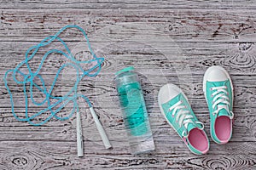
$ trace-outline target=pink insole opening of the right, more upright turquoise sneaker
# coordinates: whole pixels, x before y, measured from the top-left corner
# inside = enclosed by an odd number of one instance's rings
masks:
[[[222,144],[229,141],[231,135],[231,124],[228,116],[218,116],[215,121],[215,133]]]

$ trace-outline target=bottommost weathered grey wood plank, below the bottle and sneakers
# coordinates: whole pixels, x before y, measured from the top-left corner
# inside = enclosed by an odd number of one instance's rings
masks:
[[[155,140],[163,143],[159,139]],[[158,150],[161,150],[158,153],[152,152],[147,156],[131,156],[126,154],[125,145],[106,152],[106,150],[100,149],[101,147],[98,147],[98,150],[91,150],[95,143],[85,141],[85,156],[80,159],[74,156],[76,145],[73,142],[44,142],[44,144],[41,142],[1,142],[1,145],[6,144],[11,144],[13,147],[3,148],[1,146],[2,152],[6,155],[2,161],[7,165],[6,167],[11,169],[70,169],[72,167],[78,169],[226,169],[230,167],[250,169],[255,165],[254,153],[256,150],[253,143],[241,143],[238,147],[234,142],[221,145],[222,147],[212,144],[212,149],[207,156],[195,156],[180,144],[172,143],[167,150],[164,144],[157,145]],[[37,144],[36,148],[35,144]],[[24,147],[25,145],[26,147]],[[234,147],[236,150],[233,149]],[[102,155],[102,153],[105,154]],[[183,157],[182,160],[181,157]]]

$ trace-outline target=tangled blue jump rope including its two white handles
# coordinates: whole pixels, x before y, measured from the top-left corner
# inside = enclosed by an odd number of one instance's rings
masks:
[[[88,48],[90,50],[90,54],[92,55],[92,59],[84,60],[84,61],[79,61],[79,60],[75,59],[75,57],[71,53],[71,50],[67,47],[67,43],[64,42],[61,39],[61,37],[59,37],[61,32],[65,31],[69,28],[76,28],[83,33],[84,38],[87,42]],[[59,49],[50,49],[49,51],[47,51],[44,54],[44,56],[41,60],[41,63],[38,66],[38,69],[36,71],[32,71],[28,62],[35,56],[35,54],[37,54],[39,48],[44,48],[44,46],[48,46],[51,42],[53,42],[55,40],[61,42],[62,45],[64,46],[64,48],[67,50],[67,52],[65,53],[64,51],[59,50]],[[61,54],[61,55],[65,56],[67,59],[69,59],[71,62],[61,65],[61,68],[59,68],[59,70],[55,74],[54,81],[52,82],[50,88],[46,88],[44,78],[41,77],[39,73],[44,64],[44,60],[47,59],[49,54]],[[79,113],[79,104],[78,104],[78,99],[82,98],[88,104],[88,106],[90,108],[90,113],[94,119],[94,122],[96,123],[96,127],[102,137],[102,142],[105,145],[105,148],[106,149],[111,148],[112,146],[108,140],[108,136],[105,133],[105,131],[102,127],[102,124],[98,119],[98,116],[96,116],[96,113],[90,103],[90,100],[85,95],[77,93],[79,82],[82,81],[83,77],[85,77],[85,76],[96,77],[99,74],[99,72],[102,70],[102,62],[103,61],[104,61],[104,58],[96,57],[96,54],[94,54],[92,48],[90,47],[90,42],[89,42],[89,39],[88,39],[85,31],[79,26],[64,26],[63,28],[61,28],[60,31],[58,31],[55,34],[55,36],[45,37],[43,41],[38,43],[38,45],[28,48],[26,50],[25,59],[23,61],[21,61],[20,64],[15,67],[15,69],[6,71],[6,73],[3,77],[3,82],[5,84],[5,87],[7,88],[7,91],[10,96],[10,103],[11,103],[13,115],[20,122],[28,122],[29,124],[32,124],[34,126],[41,126],[41,125],[44,125],[46,122],[48,122],[52,117],[55,117],[57,120],[64,121],[64,120],[67,120],[70,117],[72,117],[73,114],[76,112],[78,156],[84,156],[81,117],[80,117],[80,113]],[[88,70],[83,69],[82,64],[90,64],[92,62],[96,62],[96,65],[92,66]],[[26,65],[26,68],[28,70],[27,74],[20,71],[20,68],[23,65]],[[55,87],[55,82],[57,81],[61,71],[63,69],[65,69],[66,67],[72,67],[73,69],[75,69],[76,82],[74,83],[73,88],[71,88],[71,90],[69,92],[67,92],[67,94],[65,94],[64,96],[61,96],[61,97],[54,96],[52,94],[52,91],[53,91],[53,88]],[[80,72],[82,72],[83,74],[79,75]],[[8,81],[7,81],[7,77],[9,76],[9,74],[11,74],[11,77],[13,78],[15,83],[20,84],[21,86],[23,85],[23,94],[25,96],[25,104],[26,104],[25,105],[26,118],[20,118],[15,113],[15,103],[14,103],[13,95],[11,93],[11,90],[9,89],[9,85],[8,85]],[[18,79],[17,79],[18,76],[22,77],[23,80],[18,81]],[[35,82],[35,78],[39,78],[39,80],[42,82],[42,85],[38,85]],[[29,86],[29,91],[26,90],[27,86]],[[45,95],[45,98],[42,102],[35,101],[35,99],[33,97],[33,88],[37,88],[41,93],[43,93]],[[30,98],[28,98],[28,96]],[[51,101],[52,99],[55,99],[56,101],[52,102]],[[36,113],[32,116],[28,116],[28,102],[32,102],[33,105],[37,105],[37,106],[47,105],[47,107],[45,109],[43,109],[42,111],[38,111],[38,113]],[[67,116],[57,116],[57,113],[60,112],[61,109],[63,109],[70,102],[73,102],[72,111]],[[53,111],[53,109],[55,109],[55,108],[57,108],[57,109],[55,111]],[[37,116],[40,116],[40,115],[46,113],[47,111],[50,112],[50,115],[43,122],[38,122],[38,123],[32,122],[32,120],[35,119]]]

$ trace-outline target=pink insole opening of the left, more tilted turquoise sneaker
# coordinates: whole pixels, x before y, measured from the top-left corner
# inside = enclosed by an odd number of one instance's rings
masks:
[[[193,128],[189,132],[189,143],[196,149],[200,150],[203,154],[207,153],[209,149],[209,143],[207,140],[207,134],[199,128]]]

